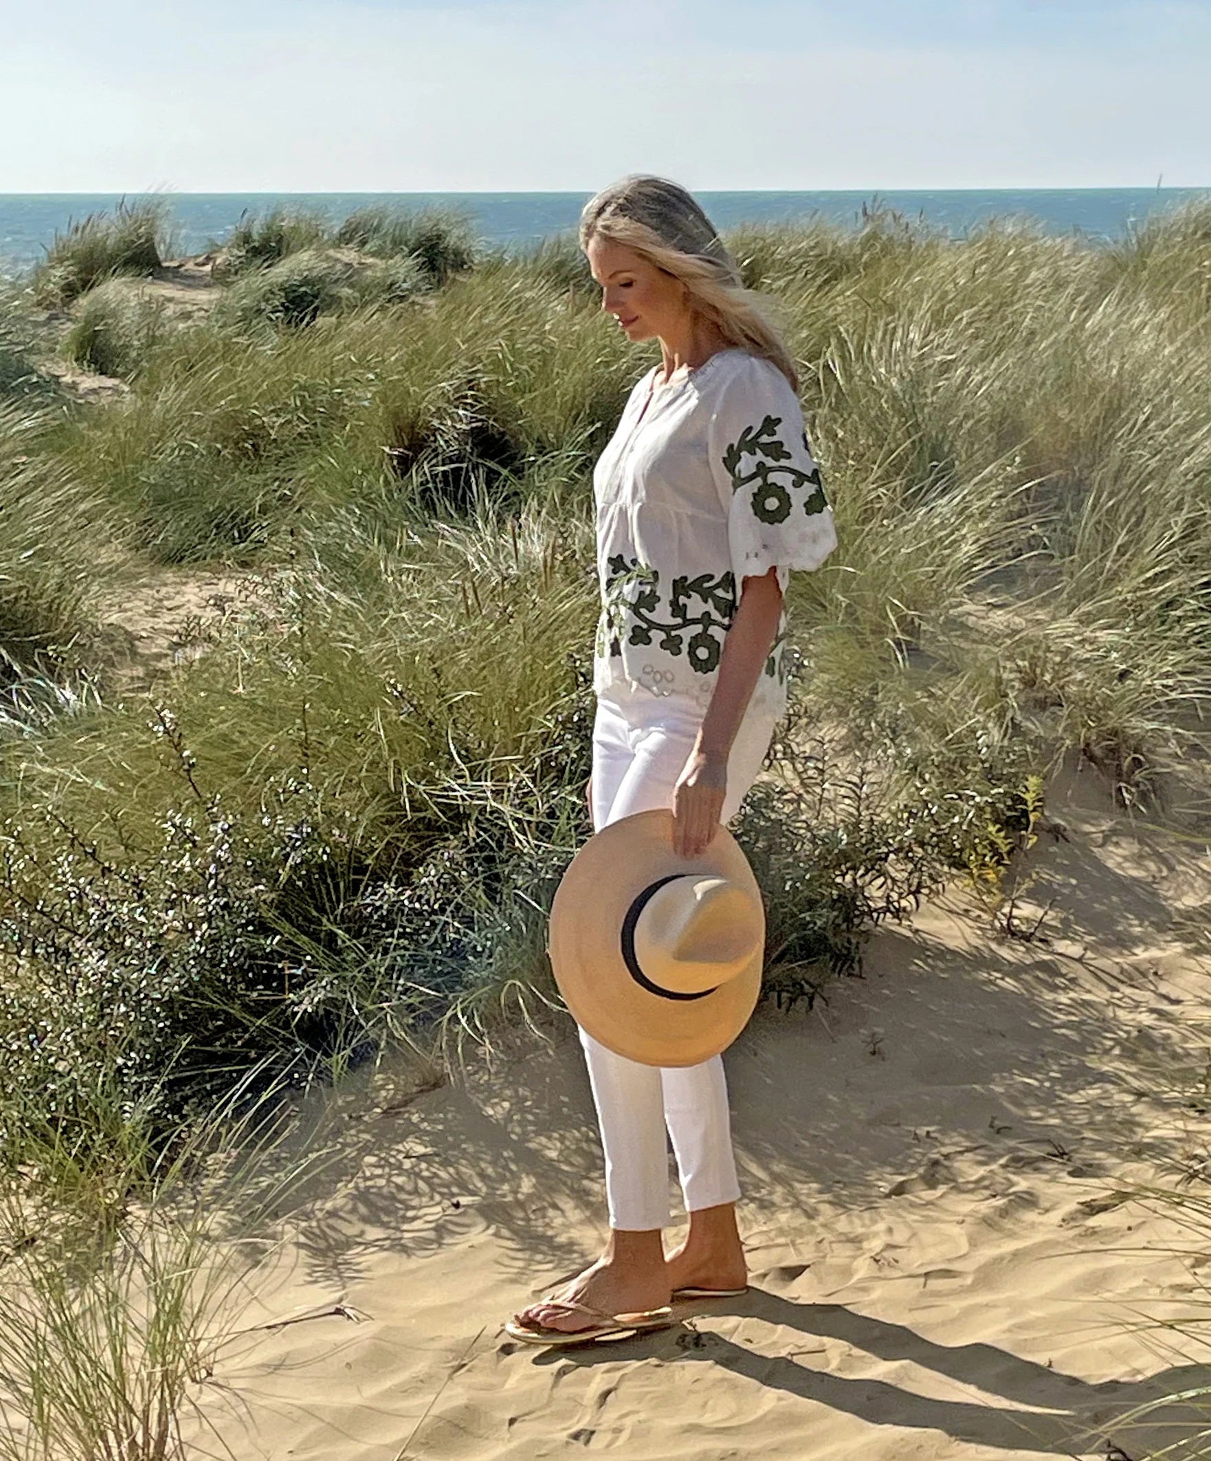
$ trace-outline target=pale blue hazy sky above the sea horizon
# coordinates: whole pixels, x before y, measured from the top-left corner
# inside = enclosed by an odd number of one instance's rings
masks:
[[[0,0],[0,191],[1211,184],[1211,0]]]

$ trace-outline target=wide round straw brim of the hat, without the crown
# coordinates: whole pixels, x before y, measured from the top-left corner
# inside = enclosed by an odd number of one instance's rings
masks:
[[[635,812],[595,833],[564,872],[551,904],[546,951],[564,1002],[581,1029],[643,1065],[700,1065],[741,1033],[761,992],[765,909],[736,839],[722,824],[697,858],[673,852],[673,814]],[[746,891],[761,910],[749,963],[700,999],[650,993],[622,957],[621,929],[633,900],[671,874],[714,874]]]

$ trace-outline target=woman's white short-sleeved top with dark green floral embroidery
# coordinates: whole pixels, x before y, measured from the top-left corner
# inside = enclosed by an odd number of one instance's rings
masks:
[[[597,694],[618,682],[703,710],[744,579],[817,568],[837,546],[799,399],[771,361],[717,351],[631,390],[593,469]],[[786,709],[786,605],[749,709]]]

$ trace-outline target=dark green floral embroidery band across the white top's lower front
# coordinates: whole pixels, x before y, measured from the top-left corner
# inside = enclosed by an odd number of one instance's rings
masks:
[[[689,668],[700,675],[708,675],[719,665],[723,638],[736,612],[736,581],[730,570],[719,577],[703,573],[695,579],[673,579],[663,615],[659,570],[637,558],[628,562],[622,554],[608,560],[608,570],[597,621],[599,656],[621,655],[624,637],[628,644],[650,644],[653,634],[659,634],[657,647],[666,655],[684,650]],[[703,605],[701,611],[691,611],[691,599]]]

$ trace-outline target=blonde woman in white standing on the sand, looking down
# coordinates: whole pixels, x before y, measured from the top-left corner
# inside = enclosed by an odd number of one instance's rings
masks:
[[[672,808],[695,856],[736,814],[786,709],[790,568],[836,546],[793,361],[694,199],[633,175],[592,199],[580,247],[602,308],[662,364],[631,390],[593,472],[602,614],[595,646],[593,828]],[[678,1290],[745,1286],[720,1056],[659,1069],[581,1030],[611,1236],[558,1293],[514,1316],[567,1334]],[[689,1233],[668,1256],[668,1124]]]

